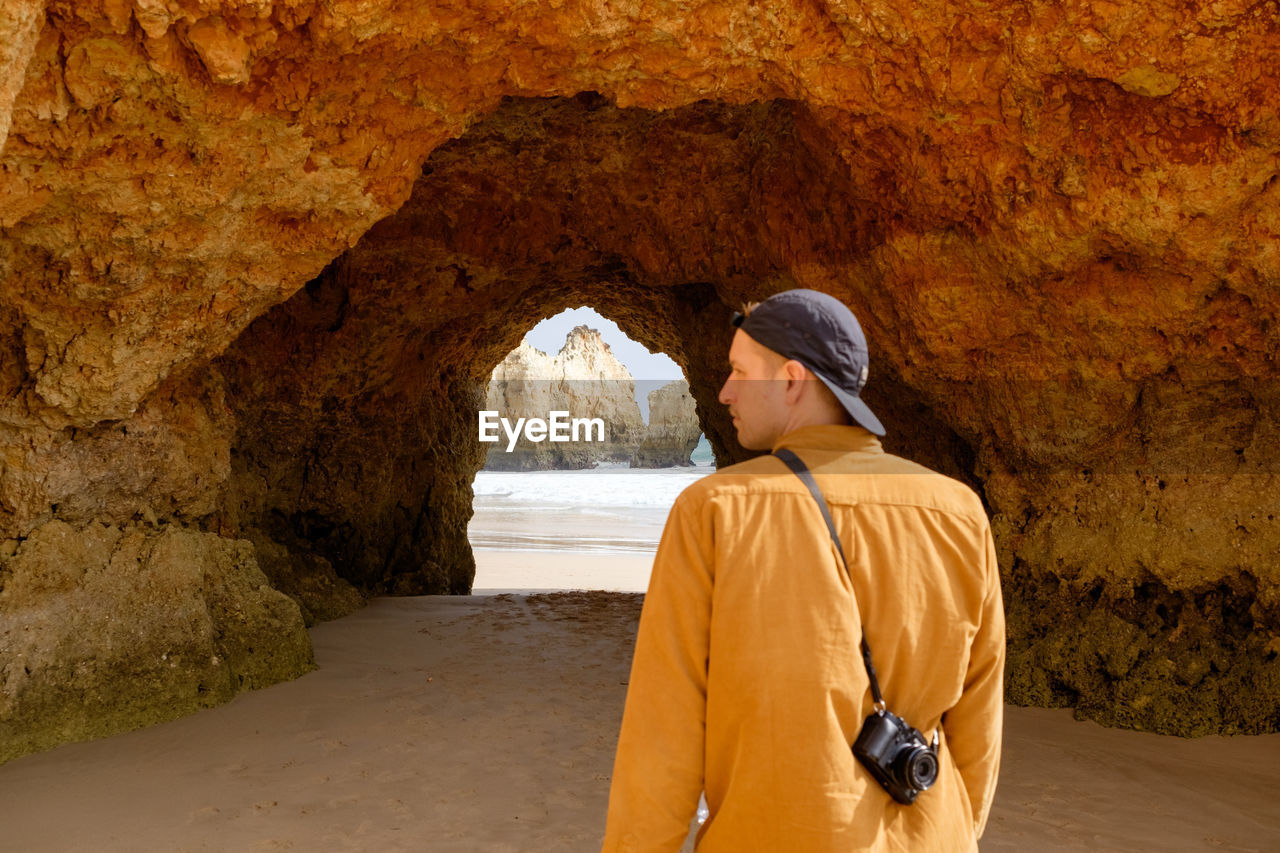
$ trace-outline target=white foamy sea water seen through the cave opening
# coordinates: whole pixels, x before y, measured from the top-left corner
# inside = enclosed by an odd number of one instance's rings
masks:
[[[713,470],[480,471],[467,534],[485,551],[652,553],[676,496]]]

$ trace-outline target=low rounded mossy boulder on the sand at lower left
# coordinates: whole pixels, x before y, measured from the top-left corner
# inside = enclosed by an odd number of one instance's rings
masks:
[[[0,762],[308,671],[297,605],[247,542],[52,520],[0,565]]]

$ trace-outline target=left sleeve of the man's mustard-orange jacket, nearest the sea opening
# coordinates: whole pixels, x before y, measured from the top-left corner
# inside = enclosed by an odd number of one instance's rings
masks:
[[[703,790],[712,532],[677,500],[654,557],[640,615],[605,853],[678,850]],[[704,516],[707,519],[709,516]]]

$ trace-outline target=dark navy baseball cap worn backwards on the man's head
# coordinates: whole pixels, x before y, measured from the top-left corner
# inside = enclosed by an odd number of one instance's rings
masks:
[[[806,366],[836,394],[854,423],[884,434],[879,418],[858,396],[867,384],[870,356],[863,327],[844,302],[818,291],[783,291],[750,314],[735,314],[733,325],[756,343]]]

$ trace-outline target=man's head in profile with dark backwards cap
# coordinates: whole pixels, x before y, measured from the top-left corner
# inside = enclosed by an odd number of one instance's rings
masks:
[[[818,291],[777,293],[733,320],[728,406],[742,447],[769,450],[792,429],[856,423],[884,426],[859,398],[867,383],[867,339],[840,300]]]

